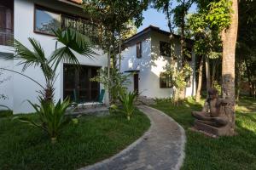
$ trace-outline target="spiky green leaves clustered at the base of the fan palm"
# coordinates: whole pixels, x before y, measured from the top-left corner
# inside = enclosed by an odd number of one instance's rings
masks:
[[[61,99],[55,104],[53,101],[45,101],[40,99],[40,105],[32,104],[36,114],[39,116],[39,122],[34,122],[28,117],[15,117],[20,122],[25,122],[32,127],[39,127],[49,134],[52,143],[56,142],[57,136],[60,134],[61,129],[67,126],[67,123],[71,121],[71,118],[65,116],[67,108],[72,105],[70,99],[65,99],[61,102]]]

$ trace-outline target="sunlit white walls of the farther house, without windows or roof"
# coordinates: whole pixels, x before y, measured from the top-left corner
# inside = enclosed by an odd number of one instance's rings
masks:
[[[137,47],[135,44],[125,48],[122,52],[121,71],[139,70],[139,93],[149,98],[170,98],[172,88],[160,88],[160,72],[166,71],[166,66],[170,65],[170,58],[160,56],[160,41],[169,42],[169,37],[158,32],[151,31],[148,38],[143,42],[143,56],[137,59]],[[175,39],[172,44],[172,57],[180,56],[180,42]],[[186,88],[186,96],[195,94],[195,56],[191,66],[194,69],[194,76],[191,77],[193,86]],[[131,85],[128,87],[133,91],[133,77]]]

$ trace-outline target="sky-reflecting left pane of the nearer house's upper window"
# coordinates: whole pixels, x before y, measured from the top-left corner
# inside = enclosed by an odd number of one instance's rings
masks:
[[[36,8],[35,11],[35,31],[53,35],[52,30],[61,28],[61,14]]]

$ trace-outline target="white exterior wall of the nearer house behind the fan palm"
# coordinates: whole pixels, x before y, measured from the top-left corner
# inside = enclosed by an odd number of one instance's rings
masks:
[[[26,47],[31,48],[32,46],[28,42],[28,37],[33,37],[38,40],[42,47],[44,48],[44,53],[49,56],[55,50],[55,37],[50,37],[43,34],[34,33],[34,5],[39,4],[49,8],[55,8],[59,11],[68,12],[69,14],[83,14],[82,8],[73,7],[71,5],[60,3],[51,0],[15,0],[14,9],[14,35],[15,39],[22,42]],[[61,44],[59,43],[59,46]],[[96,66],[107,66],[107,56],[102,54],[102,50],[95,49],[96,53],[99,54],[95,56],[94,59],[88,59],[84,56],[77,54],[79,62],[81,65],[96,65]],[[14,62],[14,70],[21,71],[22,66],[17,65],[18,60]],[[56,75],[57,80],[55,82],[55,100],[62,99],[63,97],[63,64],[57,69]],[[24,72],[26,76],[32,77],[37,82],[44,86],[44,76],[41,70],[36,67],[29,67]],[[102,88],[102,86],[101,86]],[[5,88],[4,88],[5,89]],[[7,88],[6,88],[7,89]],[[22,77],[18,74],[13,74],[13,102],[10,101],[8,105],[13,105],[11,108],[14,113],[27,113],[32,112],[33,109],[31,105],[26,101],[31,100],[32,103],[38,103],[38,93],[37,91],[41,88],[31,80],[26,77]],[[106,95],[105,95],[106,96]],[[0,108],[1,109],[1,108]]]

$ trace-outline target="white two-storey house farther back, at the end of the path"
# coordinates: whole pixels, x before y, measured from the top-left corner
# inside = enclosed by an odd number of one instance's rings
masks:
[[[177,60],[181,54],[179,36],[174,37],[172,45],[170,32],[162,31],[155,26],[148,26],[133,37],[127,39],[121,53],[121,71],[134,72],[131,77],[131,91],[137,90],[148,98],[170,98],[172,95],[171,77],[166,77],[165,71],[170,66],[171,58]],[[193,68],[193,76],[187,82],[186,96],[195,95],[195,54],[192,41],[186,39],[190,58],[185,57]],[[170,48],[171,47],[171,48]]]

